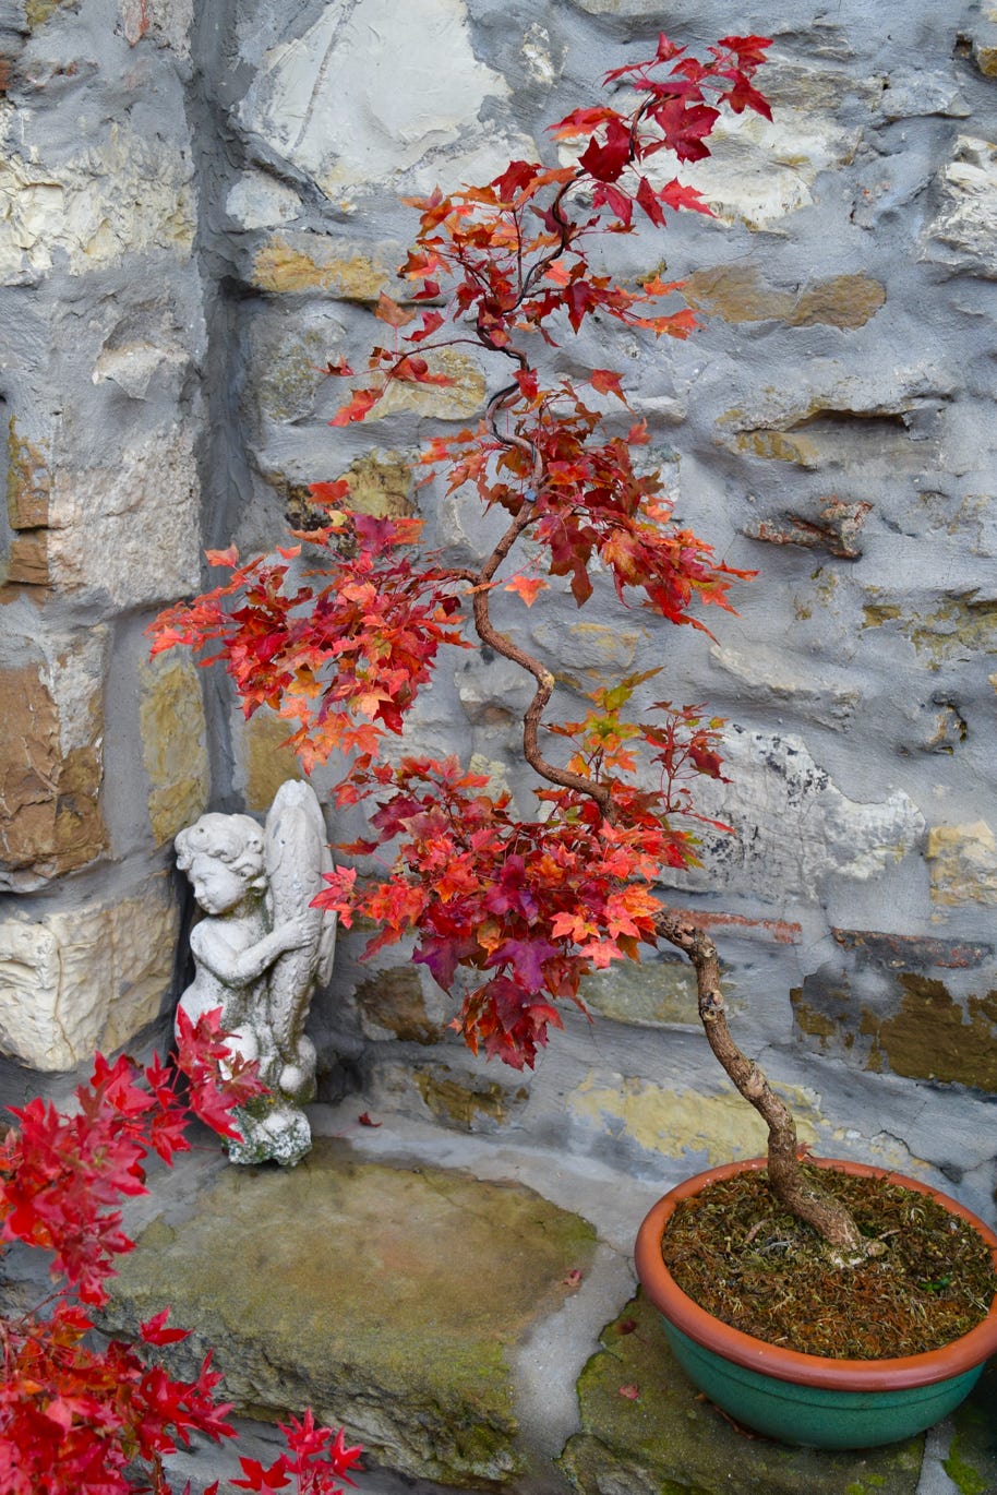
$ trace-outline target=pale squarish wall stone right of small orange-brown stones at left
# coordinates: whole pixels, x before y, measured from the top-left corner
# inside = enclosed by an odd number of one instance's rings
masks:
[[[109,465],[52,480],[48,561],[60,592],[118,607],[175,601],[200,577],[196,423],[109,451]]]

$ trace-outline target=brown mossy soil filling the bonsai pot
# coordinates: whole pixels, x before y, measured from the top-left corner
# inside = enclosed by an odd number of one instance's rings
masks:
[[[997,1271],[969,1221],[883,1178],[821,1169],[816,1181],[882,1242],[880,1256],[831,1265],[824,1242],[755,1169],[677,1205],[662,1257],[679,1287],[743,1334],[834,1359],[919,1354],[987,1317]]]

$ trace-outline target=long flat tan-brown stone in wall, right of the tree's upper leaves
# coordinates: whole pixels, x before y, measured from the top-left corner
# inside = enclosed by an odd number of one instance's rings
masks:
[[[867,275],[834,275],[797,292],[774,290],[756,265],[717,265],[694,271],[683,284],[691,306],[703,306],[725,321],[785,321],[791,327],[862,327],[886,300],[879,281]]]

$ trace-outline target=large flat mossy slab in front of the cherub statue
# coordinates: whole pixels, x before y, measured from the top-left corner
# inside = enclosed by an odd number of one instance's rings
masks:
[[[214,1344],[241,1408],[311,1405],[404,1474],[510,1488],[508,1357],[586,1269],[590,1226],[519,1186],[366,1163],[326,1139],[293,1172],[217,1175],[181,1223],[161,1197],[114,1280],[115,1326],[170,1302],[197,1326],[176,1360]]]

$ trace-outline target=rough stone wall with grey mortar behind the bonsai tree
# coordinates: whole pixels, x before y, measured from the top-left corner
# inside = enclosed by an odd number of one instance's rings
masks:
[[[806,7],[804,7],[806,9]],[[997,1094],[994,287],[997,13],[904,0],[0,0],[1,414],[9,428],[10,888],[0,1044],[39,1069],[126,1041],[167,999],[169,840],[211,797],[263,809],[294,771],[142,625],[347,475],[356,505],[417,508],[454,555],[474,507],[416,487],[427,417],[466,422],[493,375],[416,390],[330,431],[318,369],[368,347],[413,232],[399,194],[550,152],[544,126],[659,30],[774,37],[774,123],[728,121],[695,169],[716,217],[613,245],[667,260],[703,330],[593,327],[555,365],[623,371],[677,513],[737,567],[716,643],[611,595],[508,626],[558,671],[555,706],[665,667],[655,698],[729,721],[689,897],[726,957],[738,1032],[828,1150],[963,1181],[993,1208]],[[200,523],[197,520],[200,514]],[[667,685],[662,685],[662,679]],[[649,686],[650,689],[650,686]],[[517,770],[522,682],[441,665],[423,749]],[[347,828],[347,833],[351,827]],[[117,931],[121,933],[117,933]],[[398,955],[344,940],[314,1014],[326,1094],[447,1126],[526,1129],[635,1172],[753,1151],[667,957],[592,982],[596,1024],[535,1076],[475,1061]],[[336,1057],[338,1055],[338,1057]]]

